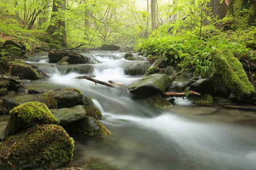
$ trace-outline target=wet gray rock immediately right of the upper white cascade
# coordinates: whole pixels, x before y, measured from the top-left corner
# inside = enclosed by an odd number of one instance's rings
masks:
[[[126,75],[143,75],[146,73],[150,63],[148,61],[136,61],[124,68]]]

